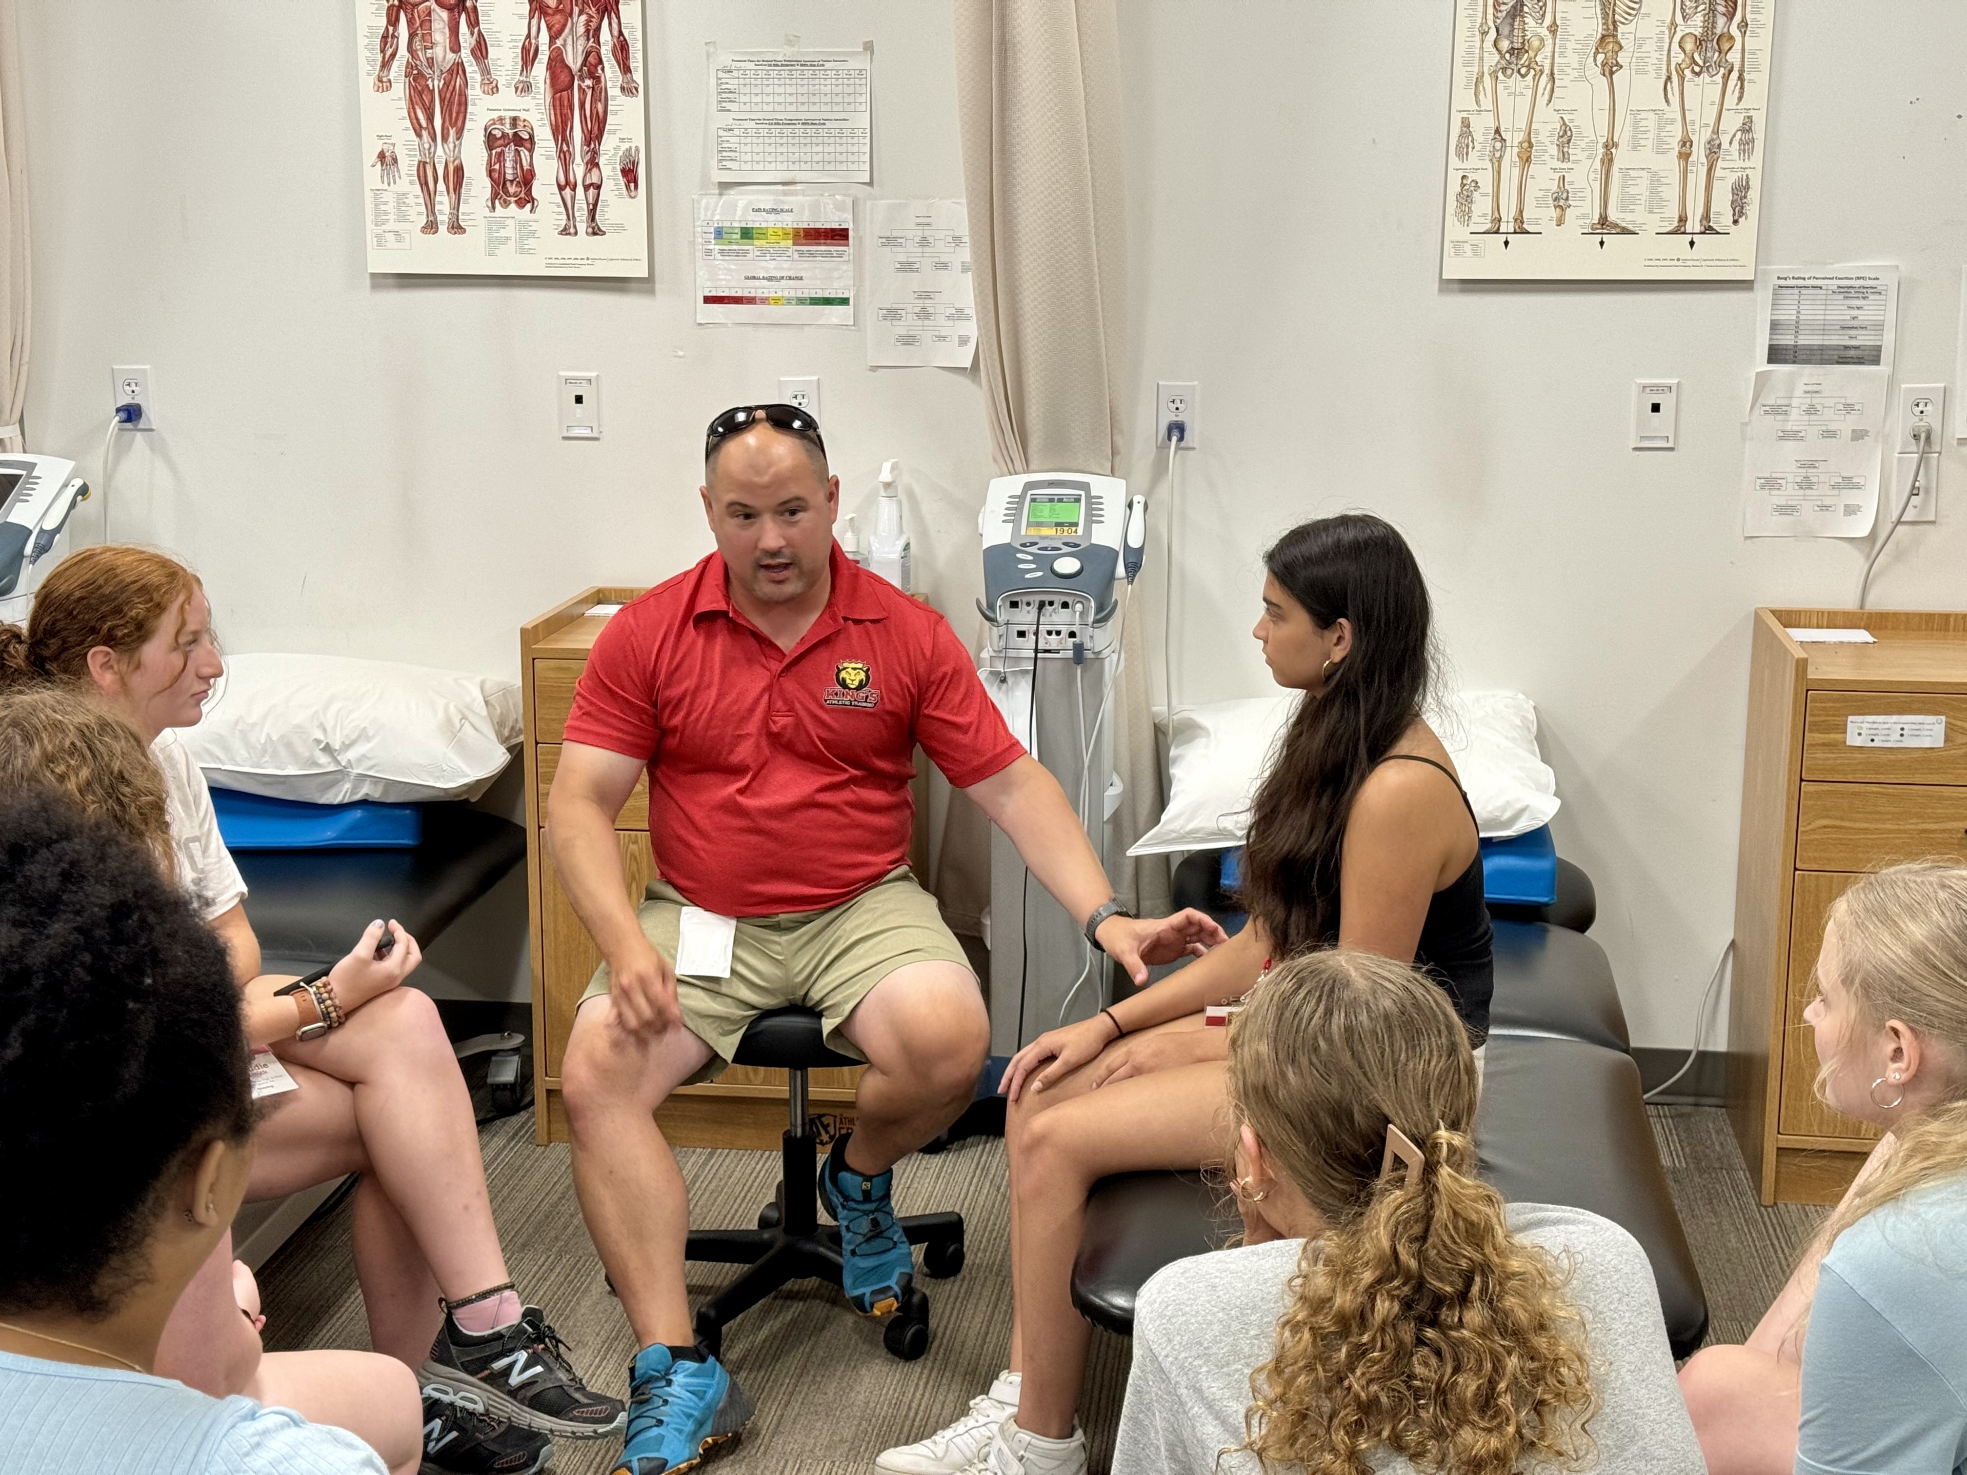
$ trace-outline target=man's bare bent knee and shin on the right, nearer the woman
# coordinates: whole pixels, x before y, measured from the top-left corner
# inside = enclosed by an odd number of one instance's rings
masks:
[[[984,1074],[989,1015],[976,974],[905,964],[869,989],[840,1027],[867,1056],[846,1147],[856,1172],[887,1172],[964,1113]]]

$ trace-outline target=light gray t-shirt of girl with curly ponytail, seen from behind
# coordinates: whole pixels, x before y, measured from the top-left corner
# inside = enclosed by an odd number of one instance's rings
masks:
[[[1599,1410],[1593,1475],[1705,1475],[1666,1345],[1660,1292],[1646,1253],[1625,1229],[1585,1210],[1511,1204],[1511,1231],[1576,1267],[1568,1296],[1583,1316]],[[1302,1239],[1176,1261],[1141,1286],[1133,1375],[1113,1449],[1113,1475],[1259,1475],[1243,1444],[1249,1375],[1271,1361],[1286,1284]],[[1375,1471],[1408,1475],[1379,1451]]]

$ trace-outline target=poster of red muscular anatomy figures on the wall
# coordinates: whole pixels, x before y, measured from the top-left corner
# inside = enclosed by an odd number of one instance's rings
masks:
[[[645,277],[641,0],[354,0],[370,271]]]

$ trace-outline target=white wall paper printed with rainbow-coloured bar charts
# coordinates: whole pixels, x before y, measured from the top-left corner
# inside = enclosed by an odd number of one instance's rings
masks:
[[[698,195],[696,321],[854,326],[854,199]]]

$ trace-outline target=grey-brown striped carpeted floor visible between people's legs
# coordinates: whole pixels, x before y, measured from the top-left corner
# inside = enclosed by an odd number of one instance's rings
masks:
[[[1707,1302],[1711,1339],[1741,1341],[1790,1272],[1821,1210],[1764,1210],[1717,1107],[1654,1107],[1654,1137],[1688,1227]],[[624,1392],[633,1351],[627,1324],[580,1225],[565,1147],[535,1147],[531,1115],[484,1131],[492,1206],[513,1278],[547,1308],[598,1388]],[[775,1152],[685,1150],[698,1227],[749,1225],[771,1200]],[[968,1265],[954,1280],[928,1280],[934,1345],[919,1363],[897,1363],[881,1329],[852,1316],[836,1292],[787,1290],[726,1331],[724,1357],[757,1398],[744,1442],[712,1469],[740,1475],[864,1475],[875,1451],[921,1438],[964,1410],[1003,1365],[1011,1331],[1009,1235],[1003,1143],[980,1139],[940,1156],[913,1156],[897,1172],[905,1213],[958,1210],[968,1225]],[[706,1296],[734,1270],[692,1265],[690,1294]],[[362,1298],[342,1204],[297,1233],[266,1265],[262,1294],[268,1347],[366,1347]],[[1094,1331],[1082,1418],[1103,1471],[1127,1383],[1127,1343]],[[612,1440],[561,1442],[559,1475],[600,1475]]]

